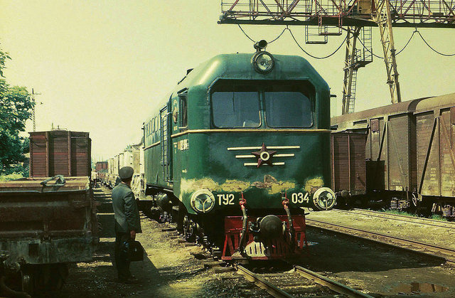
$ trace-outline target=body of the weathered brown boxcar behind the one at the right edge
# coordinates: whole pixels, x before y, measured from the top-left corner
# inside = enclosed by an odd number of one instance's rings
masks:
[[[331,119],[338,131],[368,134],[365,147],[368,190],[412,192],[417,188],[413,113],[422,100],[400,102]]]

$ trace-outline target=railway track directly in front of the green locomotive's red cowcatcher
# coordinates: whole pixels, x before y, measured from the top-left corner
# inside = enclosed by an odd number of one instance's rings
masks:
[[[254,282],[257,287],[265,289],[273,297],[287,298],[302,295],[306,297],[309,294],[332,296],[335,293],[343,294],[346,297],[371,297],[300,266],[294,266],[294,272],[280,274],[257,274],[242,265],[236,265],[236,267],[237,273],[250,282]],[[304,280],[301,277],[304,277]]]

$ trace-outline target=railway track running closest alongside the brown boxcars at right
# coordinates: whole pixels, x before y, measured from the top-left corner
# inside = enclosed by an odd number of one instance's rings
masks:
[[[391,219],[391,220],[400,220],[400,221],[404,221],[407,223],[418,223],[418,224],[422,224],[422,225],[430,225],[430,226],[434,226],[434,227],[438,227],[438,228],[449,228],[449,229],[455,230],[455,223],[444,222],[441,220],[434,220],[434,219],[430,219],[430,218],[418,218],[418,217],[414,217],[414,216],[385,213],[385,212],[380,212],[380,211],[370,211],[370,210],[358,209],[358,208],[354,208],[352,210],[333,209],[333,211],[338,212],[338,213],[368,215],[371,217],[385,218],[385,219]]]

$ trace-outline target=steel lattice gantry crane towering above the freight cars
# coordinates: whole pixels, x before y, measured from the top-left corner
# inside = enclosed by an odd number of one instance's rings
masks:
[[[380,30],[392,103],[401,102],[392,27],[455,28],[453,0],[222,0],[221,11],[218,23],[306,26],[306,43],[327,43],[327,36],[347,31],[343,114],[354,111],[358,69],[373,60],[371,27]]]

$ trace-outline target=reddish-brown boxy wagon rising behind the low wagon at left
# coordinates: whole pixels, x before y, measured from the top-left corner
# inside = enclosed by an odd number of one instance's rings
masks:
[[[30,176],[90,176],[88,132],[30,132]]]

